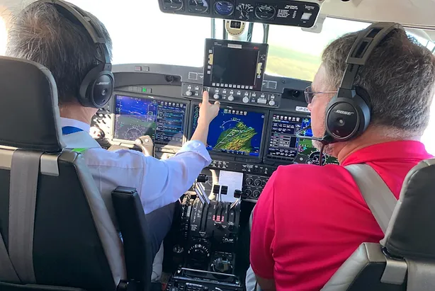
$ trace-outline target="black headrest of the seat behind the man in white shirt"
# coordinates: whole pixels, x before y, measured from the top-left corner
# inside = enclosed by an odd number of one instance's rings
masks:
[[[0,145],[62,151],[57,86],[46,67],[24,59],[0,57],[0,92]]]

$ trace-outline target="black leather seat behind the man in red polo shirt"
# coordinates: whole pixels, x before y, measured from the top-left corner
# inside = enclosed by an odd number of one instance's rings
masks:
[[[405,179],[385,238],[364,243],[323,291],[435,290],[435,159]]]

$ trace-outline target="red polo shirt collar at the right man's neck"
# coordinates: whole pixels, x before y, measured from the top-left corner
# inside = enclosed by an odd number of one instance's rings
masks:
[[[400,140],[373,144],[350,154],[341,166],[363,164],[369,161],[422,161],[432,156],[426,152],[422,142],[415,140]]]

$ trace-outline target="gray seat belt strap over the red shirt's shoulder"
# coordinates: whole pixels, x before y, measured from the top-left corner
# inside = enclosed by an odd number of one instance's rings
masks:
[[[344,168],[354,177],[368,208],[385,234],[397,204],[395,195],[371,166],[353,164]]]

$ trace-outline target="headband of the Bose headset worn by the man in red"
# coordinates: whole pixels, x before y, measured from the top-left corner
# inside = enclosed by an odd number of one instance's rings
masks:
[[[395,29],[404,29],[399,23],[373,23],[368,28],[358,33],[354,45],[346,59],[346,70],[339,86],[337,96],[352,98],[354,81],[360,67],[366,65],[371,53],[387,35]]]

